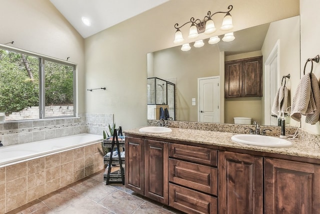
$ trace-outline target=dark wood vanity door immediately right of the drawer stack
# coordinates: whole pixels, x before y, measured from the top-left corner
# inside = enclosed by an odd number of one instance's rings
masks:
[[[262,157],[218,152],[218,213],[263,213],[262,175]]]

